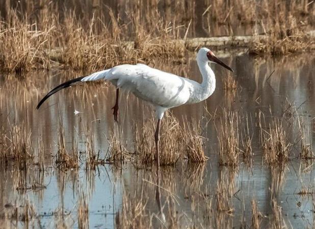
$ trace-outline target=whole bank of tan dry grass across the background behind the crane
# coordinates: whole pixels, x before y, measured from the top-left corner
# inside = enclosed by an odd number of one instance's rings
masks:
[[[250,28],[253,37],[246,46],[251,53],[289,54],[315,46],[314,38],[307,34],[315,21],[314,4],[309,1],[165,0],[91,9],[85,9],[83,1],[73,3],[77,8],[39,2],[40,7],[37,1],[3,6],[2,70],[22,72],[57,64],[93,71],[123,63],[148,63],[156,57],[180,61],[189,49],[187,38],[233,36],[238,26]]]

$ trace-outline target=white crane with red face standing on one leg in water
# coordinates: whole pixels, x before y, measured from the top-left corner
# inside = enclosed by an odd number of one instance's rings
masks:
[[[88,76],[78,77],[64,82],[52,89],[37,105],[38,109],[42,103],[52,94],[68,88],[78,82],[109,80],[115,85],[116,103],[113,115],[115,122],[118,121],[118,98],[119,89],[132,92],[155,108],[158,124],[154,134],[156,155],[155,160],[158,167],[159,160],[159,131],[164,112],[172,107],[183,104],[198,103],[211,96],[216,88],[216,77],[208,63],[216,63],[233,72],[233,70],[220,61],[208,48],[200,48],[197,53],[197,64],[202,75],[202,83],[188,78],[183,78],[168,72],[151,68],[147,65],[119,65],[111,69],[95,72]]]

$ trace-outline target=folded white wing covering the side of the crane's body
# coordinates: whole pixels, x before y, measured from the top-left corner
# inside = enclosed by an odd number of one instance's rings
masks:
[[[175,107],[190,97],[189,80],[146,65],[120,65],[106,79],[117,80],[117,87],[155,105]]]

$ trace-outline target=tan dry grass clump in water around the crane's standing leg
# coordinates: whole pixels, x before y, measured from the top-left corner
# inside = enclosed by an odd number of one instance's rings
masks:
[[[135,128],[134,145],[137,164],[152,164],[155,161],[155,125],[155,120],[151,118],[143,123],[140,131],[137,126]],[[172,113],[167,112],[160,130],[160,164],[174,165],[183,156],[183,152],[187,154],[190,162],[205,162],[207,158],[202,149],[203,138],[200,132],[200,124],[196,121],[186,122],[181,127]]]

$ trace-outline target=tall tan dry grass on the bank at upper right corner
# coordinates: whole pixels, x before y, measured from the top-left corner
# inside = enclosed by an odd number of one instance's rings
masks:
[[[288,54],[315,48],[313,38],[306,34],[314,19],[313,4],[308,1],[265,2],[264,11],[269,15],[260,22],[267,39],[256,40],[250,47],[251,53]],[[272,16],[271,16],[272,15]],[[310,26],[311,27],[311,26]]]

